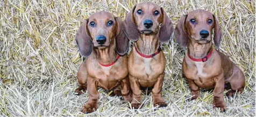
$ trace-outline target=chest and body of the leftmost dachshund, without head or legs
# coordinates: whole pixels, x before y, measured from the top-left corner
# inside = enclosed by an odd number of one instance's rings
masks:
[[[101,66],[97,61],[95,51],[93,51],[94,56],[89,56],[86,61],[84,61],[81,67],[85,67],[87,72],[87,77],[91,77],[94,79],[94,83],[97,83],[98,87],[101,87],[105,90],[113,90],[113,88],[117,87],[123,79],[128,76],[127,71],[127,57],[120,57],[115,64],[109,67]],[[116,56],[117,57],[117,56]],[[115,61],[115,59],[113,59]],[[84,68],[79,69],[78,74],[83,74]],[[81,79],[80,79],[81,78]],[[83,77],[78,77],[79,81],[84,80]],[[87,81],[89,83],[89,81]],[[89,88],[88,88],[89,90]],[[89,92],[89,91],[88,91]]]

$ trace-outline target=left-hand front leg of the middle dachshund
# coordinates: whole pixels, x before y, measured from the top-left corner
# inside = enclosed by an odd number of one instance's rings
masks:
[[[132,103],[131,106],[134,109],[138,109],[140,107],[141,103],[141,90],[140,85],[138,82],[138,79],[136,77],[133,77],[131,74],[129,74],[129,81],[131,84],[132,89]]]

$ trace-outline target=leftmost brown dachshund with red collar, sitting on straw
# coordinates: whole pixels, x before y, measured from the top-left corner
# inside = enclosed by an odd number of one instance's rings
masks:
[[[98,87],[122,93],[126,101],[132,100],[127,57],[123,56],[129,40],[122,25],[123,21],[111,13],[97,12],[83,21],[76,34],[79,52],[86,57],[77,73],[80,86],[75,91],[81,94],[81,90],[88,90],[89,99],[82,108],[83,113],[97,110]]]

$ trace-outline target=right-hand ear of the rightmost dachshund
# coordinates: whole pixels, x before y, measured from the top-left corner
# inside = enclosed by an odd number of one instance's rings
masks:
[[[222,41],[222,29],[219,26],[218,20],[215,15],[212,14],[212,16],[214,17],[214,44],[217,48],[219,48],[219,45],[221,45]]]

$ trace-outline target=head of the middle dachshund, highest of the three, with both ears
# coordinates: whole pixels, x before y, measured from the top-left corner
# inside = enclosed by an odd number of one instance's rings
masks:
[[[132,41],[137,41],[140,34],[159,34],[159,41],[165,43],[173,33],[173,24],[162,7],[146,2],[134,6],[127,14],[123,30]]]

